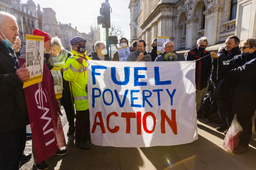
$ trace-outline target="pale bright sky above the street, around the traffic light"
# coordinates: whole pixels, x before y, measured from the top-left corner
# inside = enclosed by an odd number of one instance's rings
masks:
[[[25,3],[26,0],[21,0]],[[52,8],[56,12],[57,21],[61,23],[71,23],[72,27],[77,27],[79,32],[89,33],[90,26],[97,26],[97,17],[100,15],[100,7],[105,0],[33,0],[37,6],[42,8]],[[110,13],[111,23],[122,28],[124,37],[130,39],[130,10],[128,8],[130,0],[108,0],[112,8]],[[94,23],[95,19],[95,23]],[[103,41],[105,31],[100,26],[100,38]]]

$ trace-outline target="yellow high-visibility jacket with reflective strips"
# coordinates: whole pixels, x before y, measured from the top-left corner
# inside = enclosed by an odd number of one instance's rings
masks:
[[[76,53],[76,51],[72,50],[73,54],[71,57],[68,57],[66,64],[63,68],[63,78],[66,81],[70,81],[72,87],[72,93],[74,96],[74,102],[76,106],[76,110],[87,110],[89,108],[88,105],[88,93],[86,92],[87,85],[87,63],[86,60],[83,59],[83,65],[76,61],[79,58],[80,54]],[[91,58],[86,55],[85,58],[90,60]],[[82,56],[84,57],[84,56]],[[85,71],[85,72],[84,72]]]

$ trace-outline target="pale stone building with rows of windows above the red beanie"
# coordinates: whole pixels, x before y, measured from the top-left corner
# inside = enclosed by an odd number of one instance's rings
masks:
[[[9,0],[9,2],[12,4],[12,14],[16,17],[19,27],[20,40],[24,42],[26,34],[32,35],[34,29],[39,29],[36,4],[33,0],[27,0],[26,3],[21,3],[20,0]]]

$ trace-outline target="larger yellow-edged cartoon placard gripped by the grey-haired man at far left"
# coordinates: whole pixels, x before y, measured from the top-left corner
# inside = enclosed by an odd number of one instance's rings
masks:
[[[26,68],[30,79],[24,82],[23,88],[42,82],[44,64],[44,37],[26,35]]]

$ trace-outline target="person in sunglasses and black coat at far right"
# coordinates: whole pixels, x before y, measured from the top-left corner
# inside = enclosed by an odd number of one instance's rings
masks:
[[[216,53],[212,53],[214,70],[223,79],[214,90],[217,98],[225,100],[228,125],[231,126],[234,114],[242,127],[238,147],[232,152],[241,154],[248,150],[252,135],[252,116],[256,109],[256,39],[242,42],[241,55],[222,63]],[[218,59],[217,59],[218,58]]]

